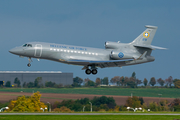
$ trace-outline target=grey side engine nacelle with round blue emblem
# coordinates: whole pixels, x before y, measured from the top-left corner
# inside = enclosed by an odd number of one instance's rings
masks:
[[[115,60],[121,60],[121,59],[134,59],[134,57],[131,54],[123,53],[120,51],[111,51],[110,55],[111,59]]]

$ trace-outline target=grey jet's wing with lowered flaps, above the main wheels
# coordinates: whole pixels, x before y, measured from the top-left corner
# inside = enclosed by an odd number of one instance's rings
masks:
[[[68,62],[87,63],[89,65],[96,64],[97,66],[104,68],[104,67],[112,67],[112,66],[121,66],[120,63],[123,63],[126,61],[133,61],[133,60],[134,59],[91,61],[91,60],[71,59],[71,60],[68,60]]]

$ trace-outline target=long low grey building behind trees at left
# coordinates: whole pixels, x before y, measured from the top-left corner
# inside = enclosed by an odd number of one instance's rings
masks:
[[[0,83],[4,85],[7,81],[14,84],[15,78],[21,82],[21,86],[26,82],[34,82],[36,78],[42,77],[41,83],[55,82],[56,84],[71,85],[73,84],[73,73],[62,73],[61,71],[0,71]]]

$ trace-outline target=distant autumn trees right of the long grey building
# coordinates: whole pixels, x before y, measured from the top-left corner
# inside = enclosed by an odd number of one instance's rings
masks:
[[[106,86],[119,86],[119,87],[130,87],[130,88],[137,88],[141,86],[155,86],[159,85],[161,87],[175,87],[180,88],[180,79],[173,79],[172,76],[169,76],[167,79],[163,80],[162,78],[155,79],[155,77],[151,77],[148,81],[146,78],[144,80],[139,80],[136,78],[136,73],[133,72],[131,77],[124,77],[124,76],[115,76],[110,80],[108,77],[104,77],[103,79],[96,78],[95,82],[86,78],[82,79],[80,77],[75,77],[73,79],[74,87],[90,87],[90,86],[99,86],[99,85],[106,85]],[[174,86],[172,86],[174,85]]]

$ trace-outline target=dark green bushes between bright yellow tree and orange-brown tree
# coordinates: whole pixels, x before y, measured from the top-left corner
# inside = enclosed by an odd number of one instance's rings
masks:
[[[52,106],[54,111],[60,112],[60,108],[65,106],[71,111],[90,111],[92,104],[93,111],[108,111],[115,109],[117,106],[113,97],[94,97],[92,100],[89,98],[82,98],[77,100],[63,100],[62,102],[55,102]]]

